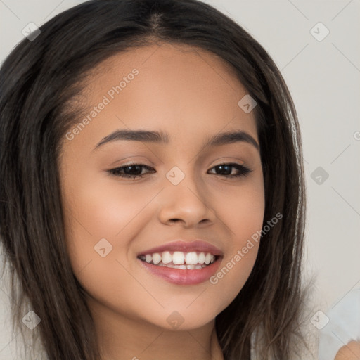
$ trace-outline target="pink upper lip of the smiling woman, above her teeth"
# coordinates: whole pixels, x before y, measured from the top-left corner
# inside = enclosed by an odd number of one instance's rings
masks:
[[[194,241],[186,241],[182,239],[176,239],[169,241],[164,245],[157,246],[156,248],[151,248],[142,252],[139,252],[139,255],[153,254],[155,252],[163,252],[163,251],[182,251],[182,252],[192,252],[192,251],[200,251],[200,252],[210,252],[212,255],[222,256],[223,253],[216,246],[207,243],[205,240],[194,240]]]

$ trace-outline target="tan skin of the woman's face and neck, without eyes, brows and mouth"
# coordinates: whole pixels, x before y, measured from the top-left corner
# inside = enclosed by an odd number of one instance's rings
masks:
[[[184,45],[155,44],[105,60],[82,101],[97,105],[134,68],[139,75],[63,143],[60,183],[72,270],[86,290],[102,359],[196,354],[198,360],[221,360],[214,319],[243,288],[259,243],[215,285],[169,283],[143,269],[136,255],[170,240],[201,238],[224,253],[221,269],[262,229],[259,150],[245,141],[201,149],[208,136],[231,130],[246,131],[259,143],[255,115],[238,106],[247,91],[229,65]],[[117,129],[165,131],[169,143],[123,140],[94,150]],[[155,172],[143,169],[135,180],[109,174],[129,161]],[[252,172],[221,175],[215,166],[229,162]],[[174,166],[185,175],[176,186],[166,177]],[[226,174],[237,173],[230,168]],[[101,238],[113,246],[105,257],[94,250]],[[167,321],[174,311],[184,321],[176,328]]]

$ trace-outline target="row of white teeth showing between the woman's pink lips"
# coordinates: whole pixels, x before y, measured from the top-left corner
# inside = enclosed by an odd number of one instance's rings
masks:
[[[172,269],[202,269],[215,261],[215,256],[210,252],[181,252],[175,251],[171,254],[169,251],[154,252],[153,254],[141,255],[141,260],[149,264],[170,267]]]

